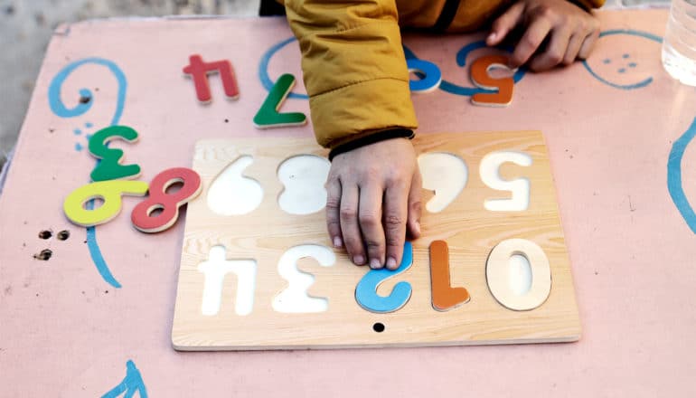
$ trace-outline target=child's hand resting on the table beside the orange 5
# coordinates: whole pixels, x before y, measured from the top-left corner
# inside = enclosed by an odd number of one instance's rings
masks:
[[[520,0],[495,20],[486,43],[503,42],[518,25],[525,32],[515,46],[510,66],[517,68],[529,61],[532,71],[588,58],[599,37],[597,18],[568,0]],[[545,40],[548,43],[543,52],[535,54]]]

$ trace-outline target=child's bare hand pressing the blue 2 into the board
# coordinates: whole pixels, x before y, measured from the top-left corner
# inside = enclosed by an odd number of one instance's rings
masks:
[[[344,245],[357,265],[399,268],[407,224],[414,238],[420,234],[421,186],[407,138],[335,156],[326,182],[326,226],[334,246]]]

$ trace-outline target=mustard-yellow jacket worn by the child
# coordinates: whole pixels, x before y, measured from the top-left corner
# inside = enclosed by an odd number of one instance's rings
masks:
[[[280,0],[282,2],[282,0]],[[418,127],[400,25],[480,28],[505,0],[285,0],[302,51],[318,143],[334,149],[375,133]],[[458,3],[458,5],[457,5]],[[604,0],[580,0],[586,8]],[[410,131],[409,131],[410,133]],[[402,136],[403,137],[403,136]]]

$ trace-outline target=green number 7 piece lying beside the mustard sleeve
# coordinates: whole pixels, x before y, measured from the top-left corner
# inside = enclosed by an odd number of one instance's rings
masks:
[[[268,97],[263,101],[261,109],[254,116],[254,126],[257,128],[280,128],[285,126],[302,126],[306,124],[307,118],[304,113],[290,112],[280,113],[280,107],[287,98],[293,86],[295,86],[295,76],[286,73],[278,78],[276,84],[268,92]]]

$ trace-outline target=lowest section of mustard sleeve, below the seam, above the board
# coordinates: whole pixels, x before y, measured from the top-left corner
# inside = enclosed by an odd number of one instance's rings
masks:
[[[418,128],[409,81],[372,79],[309,100],[319,145],[334,149],[376,132]]]

